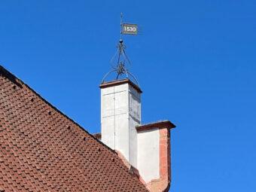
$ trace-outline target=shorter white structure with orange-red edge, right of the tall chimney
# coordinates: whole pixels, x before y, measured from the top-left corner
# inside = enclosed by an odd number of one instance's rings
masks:
[[[169,120],[136,126],[139,175],[150,191],[168,191],[171,182]]]

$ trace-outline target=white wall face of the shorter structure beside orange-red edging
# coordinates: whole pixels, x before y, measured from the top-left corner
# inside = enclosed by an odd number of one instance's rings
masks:
[[[158,129],[138,133],[139,174],[147,183],[160,178],[160,133]]]

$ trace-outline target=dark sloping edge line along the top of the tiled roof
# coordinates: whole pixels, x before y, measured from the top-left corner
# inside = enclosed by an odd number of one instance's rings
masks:
[[[89,136],[91,136],[94,140],[96,140],[96,142],[99,142],[100,144],[104,145],[106,148],[108,148],[113,154],[116,154],[118,157],[118,154],[116,151],[114,151],[113,149],[109,148],[108,145],[105,145],[103,142],[99,141],[99,139],[96,139],[95,136],[93,136],[93,134],[89,133],[87,130],[84,129],[84,127],[82,127],[80,124],[78,124],[77,122],[75,122],[75,120],[72,120],[71,117],[69,117],[67,114],[64,114],[62,111],[60,111],[58,108],[56,108],[55,106],[53,106],[50,102],[48,102],[46,99],[44,99],[39,93],[37,93],[35,90],[33,90],[31,87],[29,87],[28,84],[24,83],[20,78],[17,78],[16,75],[14,75],[13,73],[9,72],[8,69],[5,69],[5,67],[0,65],[0,74],[1,72],[4,72],[4,75],[8,75],[9,77],[7,77],[8,79],[10,79],[14,84],[17,84],[19,87],[22,87],[22,84],[26,87],[29,88],[29,90],[32,91],[32,93],[35,93],[36,96],[38,96],[40,99],[42,99],[43,102],[47,103],[47,105],[49,105],[51,108],[53,108],[53,110],[55,110],[56,112],[58,112],[59,114],[61,114],[63,117],[66,117],[68,120],[70,120],[72,123],[75,123],[76,126],[78,126],[81,130],[83,130],[84,132],[86,132]],[[11,76],[11,77],[10,77]],[[20,81],[17,82],[16,80]]]

